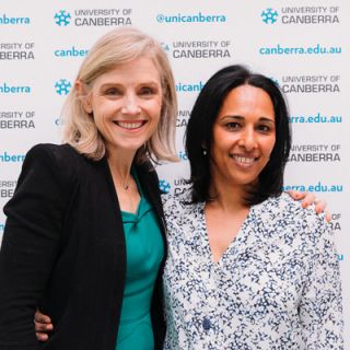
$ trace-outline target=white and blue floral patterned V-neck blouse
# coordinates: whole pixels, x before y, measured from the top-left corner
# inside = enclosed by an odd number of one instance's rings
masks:
[[[205,203],[164,197],[164,349],[343,349],[334,234],[287,194],[253,206],[213,262]]]

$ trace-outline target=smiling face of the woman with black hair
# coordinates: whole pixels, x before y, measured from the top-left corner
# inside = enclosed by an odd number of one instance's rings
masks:
[[[241,85],[223,102],[212,130],[213,184],[254,184],[269,161],[276,143],[275,110],[270,96],[259,88]]]

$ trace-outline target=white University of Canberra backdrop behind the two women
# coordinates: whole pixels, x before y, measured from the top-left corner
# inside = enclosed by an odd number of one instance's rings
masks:
[[[91,45],[132,25],[172,62],[180,163],[159,166],[165,191],[188,175],[183,135],[194,101],[218,69],[243,63],[276,80],[290,105],[293,148],[285,189],[328,202],[336,232],[350,349],[350,3],[342,1],[20,1],[0,3],[0,206],[26,151],[60,142],[59,114]],[[5,217],[0,213],[0,242]]]

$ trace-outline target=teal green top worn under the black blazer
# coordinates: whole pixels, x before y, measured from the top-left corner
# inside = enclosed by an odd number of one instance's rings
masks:
[[[133,175],[141,199],[136,213],[121,211],[127,273],[116,350],[153,350],[150,311],[164,243],[153,208]]]

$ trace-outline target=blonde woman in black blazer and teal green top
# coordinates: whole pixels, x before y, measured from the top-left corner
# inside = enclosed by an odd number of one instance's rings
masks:
[[[0,349],[160,349],[166,255],[151,160],[176,160],[174,78],[162,47],[135,28],[103,36],[63,108],[65,143],[26,155],[0,254]],[[77,328],[75,325],[79,324]]]

